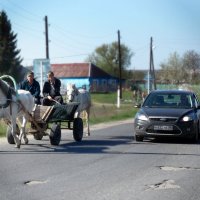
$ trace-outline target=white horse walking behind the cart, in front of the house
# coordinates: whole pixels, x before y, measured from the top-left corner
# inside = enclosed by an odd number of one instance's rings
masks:
[[[75,117],[80,117],[80,114],[85,111],[86,113],[86,136],[90,135],[89,118],[91,107],[90,93],[85,89],[77,89],[75,84],[67,84],[67,99],[70,102],[79,102],[79,106],[76,110]]]

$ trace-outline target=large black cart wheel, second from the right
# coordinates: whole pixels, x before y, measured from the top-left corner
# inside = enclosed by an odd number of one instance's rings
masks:
[[[49,135],[50,143],[52,145],[59,145],[60,138],[61,138],[60,125],[54,123],[50,130],[50,135]]]

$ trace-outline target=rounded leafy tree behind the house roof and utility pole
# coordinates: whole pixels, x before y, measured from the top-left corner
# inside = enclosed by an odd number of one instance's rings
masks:
[[[131,64],[133,53],[131,50],[121,44],[121,66],[122,77],[125,78],[127,73],[126,69]],[[88,56],[87,62],[92,62],[107,73],[118,77],[119,76],[119,51],[118,43],[103,44],[95,49],[95,51]]]

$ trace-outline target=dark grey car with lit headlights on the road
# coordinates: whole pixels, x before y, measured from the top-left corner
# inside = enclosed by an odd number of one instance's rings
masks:
[[[135,115],[135,140],[145,137],[199,139],[200,105],[194,92],[155,90],[149,93]]]

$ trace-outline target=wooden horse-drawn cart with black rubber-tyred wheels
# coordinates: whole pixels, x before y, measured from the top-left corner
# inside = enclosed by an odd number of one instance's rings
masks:
[[[73,130],[75,141],[81,141],[83,137],[83,121],[81,118],[75,118],[74,114],[79,103],[70,102],[65,104],[56,104],[54,106],[35,105],[30,116],[31,125],[28,130],[33,134],[36,140],[41,140],[43,136],[49,135],[52,145],[59,145],[61,140],[61,130]],[[18,127],[18,126],[17,126]],[[17,128],[19,131],[19,128]],[[14,144],[11,127],[7,128],[8,143]]]

